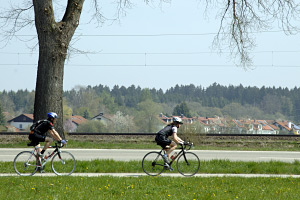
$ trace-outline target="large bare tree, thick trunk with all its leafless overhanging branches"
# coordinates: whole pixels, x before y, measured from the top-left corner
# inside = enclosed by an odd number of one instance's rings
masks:
[[[14,2],[14,6],[0,10],[0,30],[7,40],[32,23],[36,27],[39,41],[39,61],[34,105],[35,120],[44,118],[49,111],[57,112],[60,116],[63,115],[64,62],[70,48],[70,41],[79,25],[84,3],[84,0],[68,0],[62,19],[55,20],[53,1],[27,0],[24,1],[24,4]],[[95,8],[93,18],[101,21],[104,18],[99,4],[105,2],[91,1]],[[169,2],[167,0],[157,1]],[[117,2],[118,11],[131,5],[130,0]],[[150,1],[146,0],[145,2],[149,3]],[[231,47],[233,55],[237,55],[240,63],[244,66],[251,64],[248,53],[254,46],[253,32],[269,29],[273,22],[280,22],[280,28],[286,33],[298,31],[291,23],[300,17],[300,5],[295,0],[207,0],[203,4],[208,9],[210,9],[209,5],[213,5],[213,8],[219,12],[220,29],[214,40],[215,44],[227,42],[226,45]],[[30,18],[33,12],[34,19]],[[60,133],[63,133],[62,123],[61,117],[57,124]]]

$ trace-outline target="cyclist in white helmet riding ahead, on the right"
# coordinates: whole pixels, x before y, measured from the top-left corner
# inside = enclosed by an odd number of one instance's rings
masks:
[[[180,128],[180,125],[183,124],[181,118],[174,117],[173,122],[156,134],[155,141],[158,145],[160,145],[166,151],[166,154],[163,156],[165,161],[165,166],[170,168],[169,166],[169,158],[172,151],[174,151],[177,147],[177,144],[183,144],[184,141],[177,136],[177,129]],[[172,136],[173,140],[170,140],[168,137]]]

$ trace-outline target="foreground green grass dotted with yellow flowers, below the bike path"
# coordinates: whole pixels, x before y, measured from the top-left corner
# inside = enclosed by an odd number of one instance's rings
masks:
[[[0,177],[1,199],[299,199],[300,179]]]

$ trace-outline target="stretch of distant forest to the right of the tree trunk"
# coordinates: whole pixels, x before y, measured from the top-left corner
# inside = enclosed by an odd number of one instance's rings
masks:
[[[134,85],[127,88],[114,86],[112,89],[99,85],[74,88],[71,91],[64,92],[64,97],[70,105],[75,107],[90,105],[98,97],[99,101],[103,102],[108,111],[111,112],[115,112],[117,107],[137,108],[140,102],[150,99],[155,103],[162,104],[165,108],[164,113],[168,115],[174,114],[173,109],[176,105],[186,102],[192,110],[191,113],[183,112],[187,117],[229,115],[228,109],[234,103],[237,109],[232,117],[264,118],[267,116],[269,118],[270,115],[276,116],[280,113],[290,120],[300,121],[300,88],[297,87],[293,89],[281,87],[258,88],[243,87],[242,85],[222,86],[214,83],[207,88],[196,87],[193,84],[176,85],[164,92],[162,89],[142,89]],[[98,105],[98,103],[96,104]],[[172,109],[170,110],[168,107],[172,107]],[[200,107],[209,110],[214,108],[216,112],[209,114],[204,111],[205,109],[199,110]],[[223,109],[223,111],[220,113],[217,111],[218,109]],[[252,114],[245,116],[243,110],[249,109],[253,110],[250,112]],[[175,114],[178,113],[178,111],[175,111]]]

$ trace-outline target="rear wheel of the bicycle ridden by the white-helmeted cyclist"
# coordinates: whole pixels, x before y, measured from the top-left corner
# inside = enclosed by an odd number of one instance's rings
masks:
[[[142,167],[146,174],[158,176],[165,170],[164,159],[159,152],[149,152],[143,158]]]

